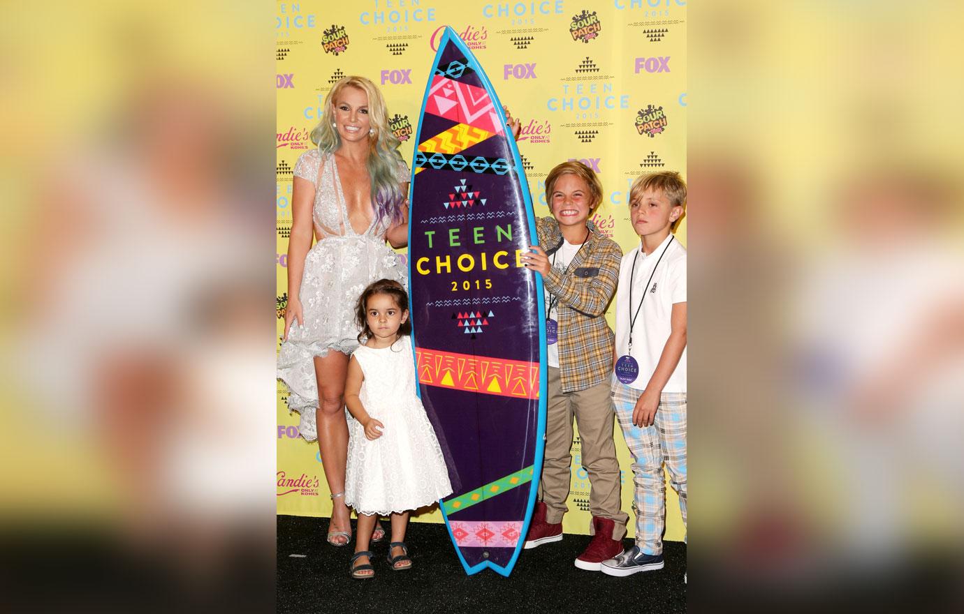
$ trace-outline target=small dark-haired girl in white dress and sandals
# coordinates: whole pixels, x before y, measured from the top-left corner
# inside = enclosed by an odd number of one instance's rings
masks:
[[[359,515],[354,578],[375,575],[368,541],[379,516],[391,516],[388,564],[410,569],[404,542],[409,510],[452,493],[439,440],[415,397],[408,304],[401,284],[380,279],[364,289],[356,307],[362,345],[345,382],[345,402],[355,417],[345,478],[345,503]]]

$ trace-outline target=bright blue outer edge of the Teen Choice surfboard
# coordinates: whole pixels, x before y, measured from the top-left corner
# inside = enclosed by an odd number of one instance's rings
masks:
[[[492,81],[489,79],[489,75],[482,69],[481,64],[472,55],[469,47],[465,44],[462,38],[456,34],[455,30],[451,26],[445,26],[445,30],[442,33],[442,40],[439,42],[439,49],[435,54],[435,60],[432,62],[432,67],[429,70],[428,79],[425,84],[425,93],[422,94],[422,105],[421,110],[418,112],[418,123],[415,124],[415,141],[414,150],[412,153],[413,166],[411,169],[411,178],[409,180],[409,219],[411,221],[412,215],[411,211],[414,206],[413,198],[415,196],[415,155],[418,153],[418,134],[419,128],[421,127],[422,118],[425,116],[425,101],[428,100],[428,93],[432,88],[432,77],[435,75],[436,69],[439,67],[439,61],[442,59],[442,49],[445,48],[445,44],[448,41],[453,41],[460,51],[466,54],[466,59],[472,68],[482,75],[482,83],[485,86],[486,93],[492,99],[495,105],[495,112],[498,114],[502,125],[505,125],[505,113],[502,111],[502,103],[499,101],[498,96],[495,95],[495,90],[492,87]],[[506,128],[506,131],[508,129]],[[508,135],[507,135],[508,137]],[[516,176],[519,177],[519,182],[522,187],[522,202],[525,206],[525,213],[528,217],[529,225],[529,237],[532,240],[532,244],[539,244],[539,233],[536,229],[536,215],[535,209],[532,206],[532,194],[529,192],[528,179],[525,176],[525,170],[522,168],[522,159],[519,156],[519,143],[515,139],[506,139],[509,141],[509,149],[512,150],[512,161],[516,166]],[[409,224],[409,245],[412,244],[412,224]],[[411,254],[408,258],[408,269],[409,269],[409,288],[411,291],[412,285],[412,258]],[[482,570],[491,568],[495,573],[508,577],[512,573],[512,569],[516,566],[516,561],[519,560],[519,555],[522,552],[522,547],[525,545],[525,535],[529,530],[529,523],[532,520],[532,510],[536,504],[536,498],[539,491],[539,481],[542,477],[542,465],[543,456],[546,451],[546,402],[549,396],[549,380],[546,373],[547,363],[546,363],[546,321],[543,320],[542,314],[546,313],[546,300],[545,300],[545,289],[543,288],[542,273],[537,271],[532,271],[535,274],[536,280],[536,302],[539,307],[539,408],[537,410],[536,419],[536,453],[532,464],[532,480],[529,485],[529,498],[528,505],[525,509],[525,518],[522,521],[522,531],[519,539],[519,543],[516,545],[516,550],[512,553],[512,558],[509,562],[502,565],[495,565],[491,561],[484,561],[473,567],[469,567],[469,563],[466,562],[465,557],[462,555],[462,551],[459,550],[458,545],[455,541],[455,536],[452,534],[452,526],[449,524],[448,515],[445,514],[445,507],[442,504],[442,499],[439,499],[439,509],[442,511],[442,519],[445,521],[445,529],[448,531],[448,537],[452,542],[452,546],[455,547],[455,553],[459,557],[459,561],[462,563],[463,569],[466,570],[466,575],[473,576],[481,572]],[[409,310],[409,320],[412,322],[412,329],[415,331],[415,305],[412,305],[412,309]],[[421,387],[418,385],[418,361],[415,357],[415,335],[412,335],[412,356],[415,362],[415,395],[421,399]]]

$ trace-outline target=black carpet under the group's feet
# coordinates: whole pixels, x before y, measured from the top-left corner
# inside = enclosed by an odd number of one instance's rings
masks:
[[[386,521],[383,526],[388,528]],[[425,612],[449,614],[484,607],[506,611],[684,612],[686,546],[666,542],[664,569],[628,577],[586,572],[573,564],[588,535],[522,550],[509,577],[492,570],[466,576],[444,524],[410,523],[406,542],[413,568],[393,572],[388,539],[374,544],[373,579],[348,576],[355,541],[344,548],[325,542],[328,519],[278,517],[278,612]],[[354,531],[353,531],[354,536]],[[624,540],[631,546],[631,540]],[[292,557],[291,554],[305,554]]]

